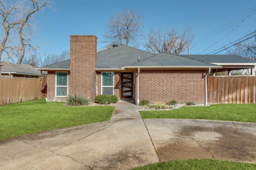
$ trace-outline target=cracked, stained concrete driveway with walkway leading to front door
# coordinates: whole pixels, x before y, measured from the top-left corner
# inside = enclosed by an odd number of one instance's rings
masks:
[[[256,123],[142,120],[119,101],[110,121],[0,141],[0,169],[132,169],[159,161],[214,158],[256,163]]]

